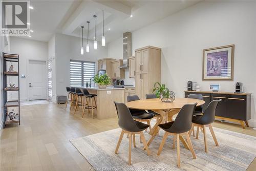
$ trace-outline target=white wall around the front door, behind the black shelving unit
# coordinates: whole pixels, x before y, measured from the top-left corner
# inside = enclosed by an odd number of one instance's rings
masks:
[[[42,60],[47,61],[48,58],[48,46],[47,42],[29,40],[24,38],[10,37],[10,53],[19,54],[19,75],[26,75],[26,78],[19,79],[20,87],[20,101],[29,100],[28,92],[28,61]],[[15,70],[15,66],[14,66]],[[16,82],[16,81],[15,81]],[[15,84],[16,86],[16,84]],[[17,98],[13,94],[12,97]]]

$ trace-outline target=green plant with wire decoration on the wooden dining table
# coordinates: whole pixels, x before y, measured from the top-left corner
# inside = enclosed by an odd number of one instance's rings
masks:
[[[162,102],[173,102],[175,99],[175,94],[172,91],[169,91],[165,84],[160,84],[156,82],[154,84],[153,92],[156,92],[157,98],[159,98]]]

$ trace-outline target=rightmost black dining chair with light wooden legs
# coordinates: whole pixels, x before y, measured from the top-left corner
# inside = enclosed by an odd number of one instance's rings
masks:
[[[203,134],[204,134],[204,147],[205,147],[205,152],[208,152],[208,145],[207,145],[207,140],[206,140],[206,126],[209,127],[210,133],[212,138],[214,139],[215,145],[219,146],[219,143],[217,141],[217,138],[215,136],[214,130],[212,129],[211,123],[214,122],[215,120],[215,112],[216,108],[219,104],[220,100],[212,100],[206,110],[204,111],[203,115],[196,115],[193,116],[192,118],[192,128],[189,131],[189,135],[193,131],[194,127],[197,126],[197,136],[196,139],[198,139],[198,134],[199,134],[199,127],[202,127],[203,129]]]

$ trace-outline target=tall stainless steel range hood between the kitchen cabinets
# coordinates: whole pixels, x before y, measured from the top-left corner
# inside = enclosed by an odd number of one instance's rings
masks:
[[[123,65],[120,69],[129,68],[128,57],[132,56],[132,33],[123,33]]]

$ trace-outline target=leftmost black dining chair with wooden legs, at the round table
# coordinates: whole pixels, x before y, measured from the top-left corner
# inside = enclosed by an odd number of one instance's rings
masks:
[[[133,145],[134,147],[136,147],[135,144],[135,134],[139,134],[144,148],[146,149],[147,152],[147,156],[150,156],[150,150],[148,149],[147,143],[146,143],[146,139],[145,136],[143,134],[143,131],[145,129],[147,129],[147,127],[149,127],[150,125],[147,125],[145,123],[136,121],[133,119],[131,112],[129,111],[129,109],[127,108],[127,106],[124,103],[117,103],[114,102],[115,106],[116,106],[116,111],[117,111],[117,116],[118,116],[118,125],[119,127],[122,129],[117,146],[116,146],[116,150],[115,150],[115,154],[118,153],[118,149],[120,146],[120,143],[122,141],[123,138],[123,134],[127,133],[129,134],[129,159],[128,159],[128,164],[131,165],[131,156],[132,156],[132,137],[133,137]]]

